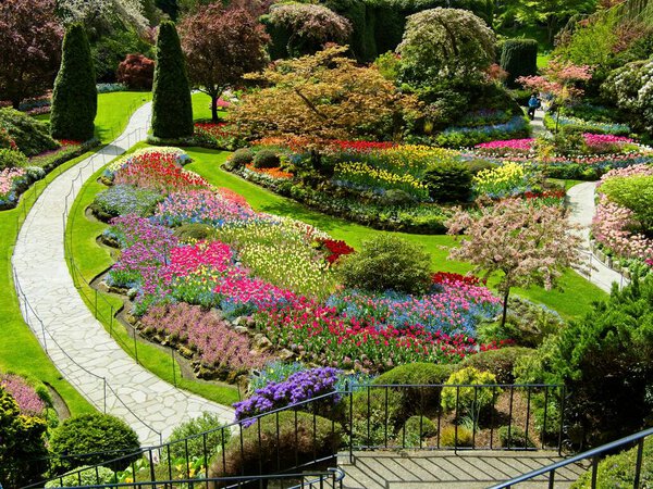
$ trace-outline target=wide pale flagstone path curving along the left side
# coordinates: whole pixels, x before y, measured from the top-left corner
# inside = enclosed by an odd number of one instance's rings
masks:
[[[99,411],[125,419],[143,446],[158,444],[176,425],[205,411],[225,423],[234,417],[232,409],[177,389],[137,365],[94,317],[66,266],[62,215],[74,200],[66,199],[71,186],[78,191],[97,170],[143,139],[150,113],[150,103],[138,109],[118,139],[46,188],[21,228],[12,258],[23,317],[57,368]]]

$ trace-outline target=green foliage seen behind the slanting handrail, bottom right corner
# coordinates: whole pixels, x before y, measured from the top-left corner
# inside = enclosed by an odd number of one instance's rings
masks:
[[[633,487],[637,451],[638,448],[634,447],[617,455],[609,455],[599,462],[596,489]],[[644,440],[642,472],[638,487],[649,488],[651,485],[653,485],[653,438],[649,437]],[[571,485],[571,489],[590,489],[591,487],[592,471],[586,472]]]

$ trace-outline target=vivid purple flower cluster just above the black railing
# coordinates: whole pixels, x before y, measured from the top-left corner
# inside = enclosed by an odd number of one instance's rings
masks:
[[[254,416],[333,392],[337,374],[337,368],[318,367],[297,372],[282,383],[270,383],[249,399],[234,404],[236,421],[245,419],[243,426],[249,426]]]

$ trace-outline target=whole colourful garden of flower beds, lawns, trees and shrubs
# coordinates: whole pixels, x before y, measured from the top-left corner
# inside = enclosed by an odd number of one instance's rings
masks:
[[[2,263],[56,174],[151,98],[147,143],[77,189],[65,260],[136,362],[234,425],[205,413],[141,450],[58,375],[8,279],[2,485],[574,452],[650,426],[652,9],[136,3],[0,5]],[[609,294],[583,246],[623,277]],[[631,484],[636,463],[599,477]]]

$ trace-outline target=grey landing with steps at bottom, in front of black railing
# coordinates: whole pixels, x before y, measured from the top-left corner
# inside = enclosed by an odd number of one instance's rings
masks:
[[[355,452],[354,464],[340,455],[345,489],[481,489],[562,460],[556,452],[414,451]],[[556,472],[557,488],[568,488],[584,468],[569,465]],[[544,478],[519,488],[547,488]]]

